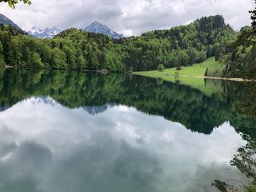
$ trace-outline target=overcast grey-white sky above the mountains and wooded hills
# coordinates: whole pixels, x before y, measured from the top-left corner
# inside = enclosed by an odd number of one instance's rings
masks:
[[[31,0],[15,10],[0,4],[0,12],[18,26],[60,29],[85,28],[95,20],[125,36],[187,24],[207,15],[221,14],[236,30],[249,25],[254,0]]]

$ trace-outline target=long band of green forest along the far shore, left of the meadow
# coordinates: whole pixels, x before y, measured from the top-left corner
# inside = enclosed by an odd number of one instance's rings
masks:
[[[76,28],[53,39],[36,39],[1,24],[0,64],[113,72],[157,69],[159,64],[189,66],[213,55],[219,60],[235,37],[236,32],[221,15],[118,40]]]

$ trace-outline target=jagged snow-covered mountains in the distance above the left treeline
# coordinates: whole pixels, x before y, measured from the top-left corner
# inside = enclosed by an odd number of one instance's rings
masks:
[[[59,34],[61,32],[56,27],[42,29],[37,26],[34,26],[32,28],[23,28],[23,31],[26,31],[31,36],[38,37],[41,39],[53,38],[54,36],[56,36],[57,34]]]

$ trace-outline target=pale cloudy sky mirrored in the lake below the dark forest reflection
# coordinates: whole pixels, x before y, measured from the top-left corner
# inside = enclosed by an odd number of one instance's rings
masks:
[[[0,191],[203,192],[241,179],[229,161],[244,142],[227,123],[207,136],[134,108],[91,116],[29,100],[0,118]]]

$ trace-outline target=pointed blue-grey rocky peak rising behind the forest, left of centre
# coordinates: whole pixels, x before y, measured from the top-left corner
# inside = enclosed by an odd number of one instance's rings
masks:
[[[108,26],[104,26],[102,25],[102,23],[99,23],[97,21],[94,21],[94,23],[91,23],[91,25],[87,26],[86,28],[83,28],[83,31],[97,34],[105,34],[109,37],[112,37],[113,39],[124,38],[122,34],[118,34],[115,31],[112,31],[110,28],[108,28]]]

